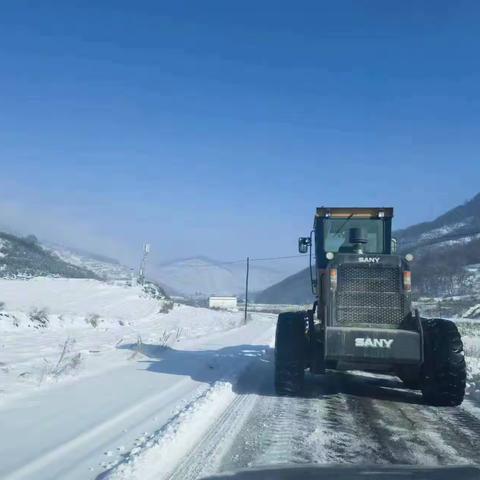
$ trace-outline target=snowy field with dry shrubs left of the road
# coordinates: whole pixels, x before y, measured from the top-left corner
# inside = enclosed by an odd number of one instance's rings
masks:
[[[240,313],[152,298],[96,280],[0,280],[0,402],[128,362],[122,345],[168,346],[241,324]],[[166,308],[167,307],[167,308]]]

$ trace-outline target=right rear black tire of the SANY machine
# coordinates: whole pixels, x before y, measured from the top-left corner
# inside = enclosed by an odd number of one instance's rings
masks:
[[[422,318],[424,364],[422,394],[436,406],[460,405],[465,396],[466,365],[463,342],[450,320]]]

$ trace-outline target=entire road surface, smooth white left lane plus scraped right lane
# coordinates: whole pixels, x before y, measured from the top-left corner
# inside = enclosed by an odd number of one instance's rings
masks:
[[[480,461],[480,405],[422,404],[393,377],[307,376],[301,398],[273,391],[274,316],[178,342],[7,402],[7,479],[197,479],[276,463]],[[137,351],[137,353],[135,353]]]

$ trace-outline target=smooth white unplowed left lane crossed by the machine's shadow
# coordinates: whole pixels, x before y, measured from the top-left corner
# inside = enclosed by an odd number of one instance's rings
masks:
[[[186,339],[175,349],[142,344],[138,352],[125,344],[136,356],[130,363],[5,402],[0,477],[94,478],[126,452],[148,447],[154,432],[195,410],[212,390],[235,383],[272,335],[272,318],[257,315],[245,327]],[[215,408],[215,401],[207,404]]]

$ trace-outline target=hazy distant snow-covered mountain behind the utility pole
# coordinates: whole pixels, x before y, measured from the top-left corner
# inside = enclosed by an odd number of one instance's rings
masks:
[[[251,262],[249,290],[262,290],[296,269],[292,262]],[[150,271],[154,278],[186,295],[239,295],[245,291],[246,263],[243,261],[220,262],[199,256],[162,263]]]

